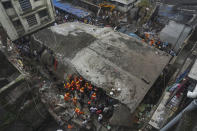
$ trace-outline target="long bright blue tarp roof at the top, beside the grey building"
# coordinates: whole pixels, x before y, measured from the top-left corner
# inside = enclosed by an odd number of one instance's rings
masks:
[[[79,18],[85,18],[90,15],[89,12],[79,9],[67,2],[59,2],[57,0],[53,0],[53,5],[56,8],[62,9],[70,14],[73,14],[73,15],[79,17]]]

